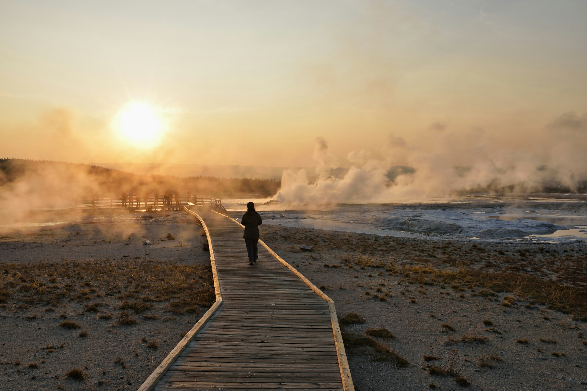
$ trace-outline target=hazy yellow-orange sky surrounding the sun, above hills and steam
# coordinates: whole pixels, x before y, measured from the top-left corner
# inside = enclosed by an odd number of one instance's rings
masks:
[[[0,157],[311,166],[323,137],[344,165],[394,137],[587,132],[586,16],[585,0],[0,0]],[[133,100],[160,144],[115,134]]]

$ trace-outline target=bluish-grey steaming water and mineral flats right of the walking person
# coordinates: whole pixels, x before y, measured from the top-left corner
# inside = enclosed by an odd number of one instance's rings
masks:
[[[262,205],[264,199],[222,200],[241,217],[252,200],[265,224],[403,237],[475,239],[491,242],[587,240],[586,195],[467,195],[401,204]],[[303,210],[302,210],[303,209]]]

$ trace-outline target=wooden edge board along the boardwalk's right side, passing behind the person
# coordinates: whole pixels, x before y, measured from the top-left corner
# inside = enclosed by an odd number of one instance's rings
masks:
[[[242,225],[232,217],[223,215],[222,213],[216,211],[214,212],[218,213],[218,215],[226,217],[227,219],[231,219],[239,226],[244,228],[244,225]],[[259,243],[261,243],[263,247],[265,247],[265,249],[269,251],[269,253],[271,253],[271,255],[274,256],[279,262],[284,264],[285,267],[289,268],[289,270],[291,270],[296,276],[298,276],[299,279],[303,281],[303,283],[308,285],[308,287],[311,290],[313,290],[316,294],[318,294],[323,300],[325,300],[328,303],[328,308],[330,310],[330,322],[332,322],[332,331],[334,333],[334,341],[336,345],[336,356],[338,357],[340,377],[342,378],[342,386],[344,387],[344,391],[355,391],[355,385],[353,385],[353,379],[350,376],[349,362],[346,358],[345,345],[342,342],[342,333],[340,332],[340,325],[338,324],[338,317],[336,315],[334,300],[332,300],[330,297],[328,297],[328,295],[319,290],[319,288],[316,287],[316,285],[312,284],[312,282],[308,280],[308,278],[303,276],[302,273],[296,270],[295,267],[291,266],[284,259],[278,256],[278,254],[276,254],[275,251],[273,251],[269,246],[267,246],[265,242],[263,242],[261,239],[259,239]]]

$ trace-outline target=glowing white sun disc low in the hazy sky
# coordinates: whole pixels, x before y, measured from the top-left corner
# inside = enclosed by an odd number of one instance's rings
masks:
[[[163,121],[153,107],[137,101],[125,104],[114,117],[113,125],[122,140],[139,148],[154,147],[164,133]]]

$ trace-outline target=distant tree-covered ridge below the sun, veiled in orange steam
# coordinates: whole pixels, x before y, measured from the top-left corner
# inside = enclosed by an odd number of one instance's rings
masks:
[[[0,159],[0,191],[19,196],[49,198],[112,197],[123,191],[163,193],[177,189],[182,196],[227,196],[237,193],[272,195],[280,181],[258,178],[214,178],[212,176],[139,175],[97,165],[67,162]],[[27,197],[28,198],[28,197]]]

